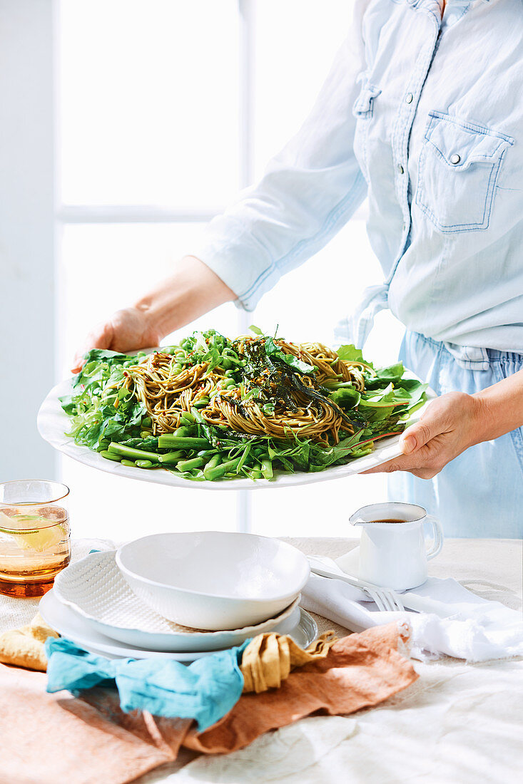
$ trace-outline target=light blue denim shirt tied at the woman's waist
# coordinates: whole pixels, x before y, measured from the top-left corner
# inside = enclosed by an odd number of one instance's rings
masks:
[[[523,352],[523,0],[356,0],[302,129],[199,256],[251,310],[368,196],[383,307],[470,368]],[[340,260],[353,263],[356,260]]]

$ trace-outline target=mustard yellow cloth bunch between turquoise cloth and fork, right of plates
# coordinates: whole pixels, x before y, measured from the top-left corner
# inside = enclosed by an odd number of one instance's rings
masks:
[[[288,635],[258,634],[243,651],[240,665],[243,691],[259,694],[269,688],[280,688],[291,670],[324,659],[337,640],[334,632],[324,632],[304,651]]]

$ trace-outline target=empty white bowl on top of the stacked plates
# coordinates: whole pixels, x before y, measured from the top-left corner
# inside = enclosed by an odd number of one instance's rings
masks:
[[[144,536],[120,547],[116,564],[155,612],[195,629],[272,618],[309,578],[307,559],[290,544],[218,531]]]

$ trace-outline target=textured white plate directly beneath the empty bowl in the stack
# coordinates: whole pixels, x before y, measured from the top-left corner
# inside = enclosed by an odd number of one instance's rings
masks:
[[[91,553],[70,564],[54,581],[54,596],[79,613],[94,631],[136,648],[152,651],[216,651],[240,645],[248,637],[278,626],[287,634],[296,626],[299,599],[276,618],[233,631],[188,629],[158,615],[130,589],[115,562],[115,550]]]

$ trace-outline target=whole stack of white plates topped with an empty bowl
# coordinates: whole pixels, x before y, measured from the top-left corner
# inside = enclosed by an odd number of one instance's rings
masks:
[[[305,556],[279,539],[155,534],[68,566],[40,612],[90,652],[189,662],[269,631],[308,645],[316,624],[298,606],[308,578]]]

